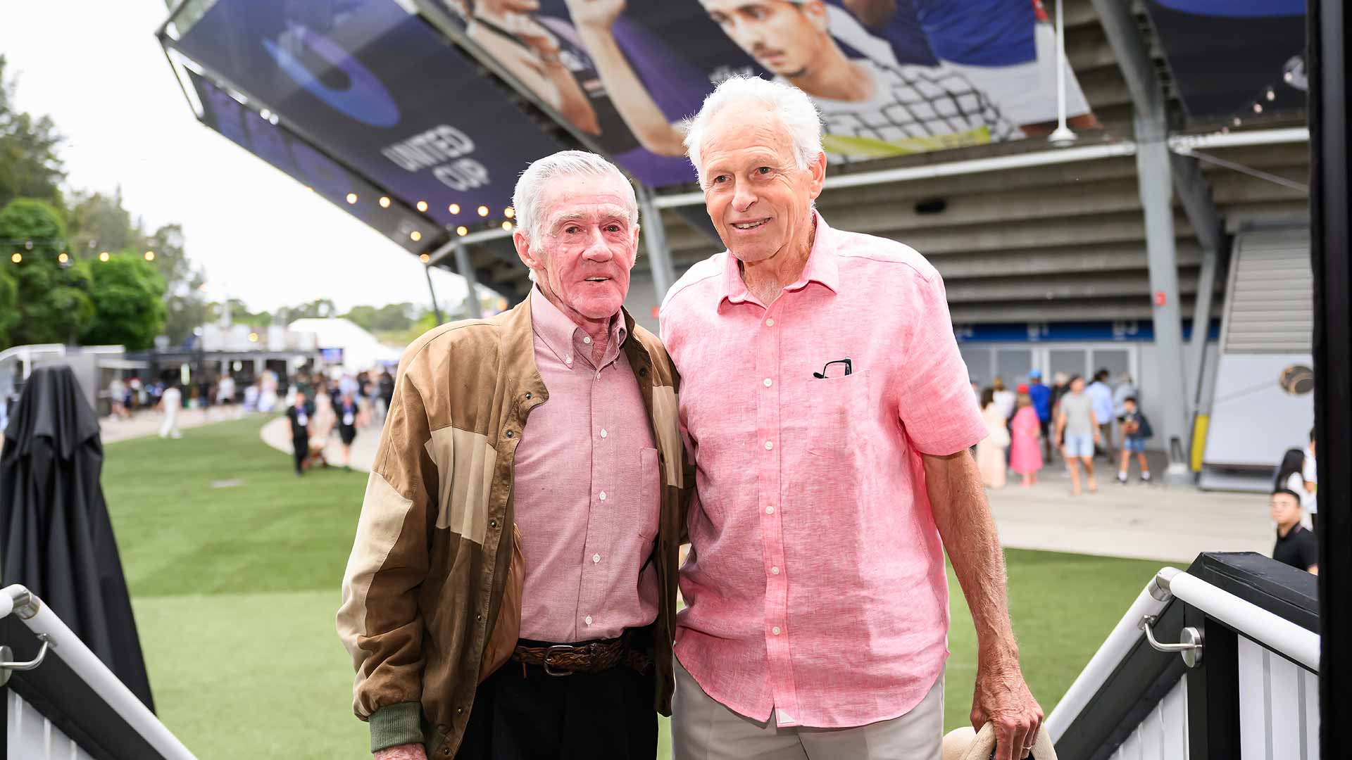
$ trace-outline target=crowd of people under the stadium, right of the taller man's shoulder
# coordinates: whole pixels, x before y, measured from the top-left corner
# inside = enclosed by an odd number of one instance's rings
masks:
[[[982,481],[988,488],[1003,488],[1013,472],[1023,487],[1032,487],[1055,452],[1065,462],[1071,494],[1076,496],[1084,490],[1098,491],[1096,457],[1117,465],[1117,483],[1124,485],[1130,481],[1134,458],[1141,483],[1149,483],[1145,441],[1155,433],[1141,412],[1140,392],[1129,375],[1121,375],[1115,387],[1109,385],[1110,377],[1107,369],[1099,369],[1086,384],[1079,375],[1057,373],[1046,385],[1042,372],[1033,369],[1028,383],[1014,389],[1000,377],[986,388],[972,383],[990,433],[976,445]]]

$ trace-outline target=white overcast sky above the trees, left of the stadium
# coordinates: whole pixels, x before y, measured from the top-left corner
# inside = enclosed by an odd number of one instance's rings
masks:
[[[69,187],[122,185],[147,229],[181,223],[212,299],[429,304],[416,257],[193,118],[154,37],[166,16],[162,0],[0,3],[16,104],[68,138]],[[464,296],[457,275],[433,277],[442,304]]]

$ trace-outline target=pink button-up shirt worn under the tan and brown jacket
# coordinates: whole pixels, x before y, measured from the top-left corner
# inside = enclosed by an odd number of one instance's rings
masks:
[[[600,364],[587,333],[530,293],[549,399],[516,445],[515,518],[526,557],[521,637],[614,638],[657,619],[658,462],[638,380],[611,322]]]

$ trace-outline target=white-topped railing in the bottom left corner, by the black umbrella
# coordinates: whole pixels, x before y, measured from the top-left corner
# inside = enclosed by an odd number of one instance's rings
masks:
[[[38,595],[30,592],[22,586],[9,586],[0,590],[0,618],[9,615],[16,615],[24,626],[28,627],[35,636],[45,637],[49,649],[46,650],[46,657],[59,657],[80,679],[82,679],[89,687],[108,703],[110,707],[123,719],[126,723],[141,734],[151,748],[154,748],[165,760],[196,760],[192,752],[178,741],[173,733],[160,722],[160,718],[154,715],[139,699],[131,692],[122,680],[103,664],[93,652],[85,646],[84,641],[74,634],[66,623],[61,622],[61,618],[47,607]],[[3,644],[3,642],[0,642]],[[38,663],[32,669],[42,668]],[[14,696],[11,694],[11,696]],[[22,703],[22,700],[19,700]],[[27,703],[16,705],[11,700],[8,706],[11,714],[14,710],[32,709]],[[37,719],[37,715],[34,715]],[[32,723],[30,721],[30,723]],[[8,746],[11,749],[11,757],[47,757],[51,749],[51,726],[47,725],[43,730],[28,730],[22,736],[15,736],[12,732],[16,726],[11,723],[11,736],[7,738]],[[22,730],[22,729],[20,729]],[[26,738],[27,737],[27,738]],[[93,737],[97,741],[97,737]],[[32,746],[15,746],[15,741],[31,740],[38,742]],[[68,740],[69,741],[69,740]],[[45,742],[45,744],[43,744]]]

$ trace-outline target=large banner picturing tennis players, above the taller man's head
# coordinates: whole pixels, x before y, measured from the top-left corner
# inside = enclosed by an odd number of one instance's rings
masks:
[[[1045,135],[1040,0],[416,0],[425,16],[650,185],[694,179],[680,122],[752,73],[813,97],[833,162]],[[1072,126],[1096,127],[1067,68]]]

